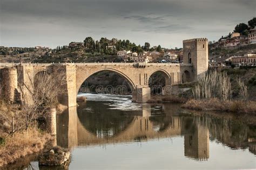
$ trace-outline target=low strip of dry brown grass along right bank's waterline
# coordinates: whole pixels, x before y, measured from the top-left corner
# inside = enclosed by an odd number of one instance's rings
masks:
[[[194,110],[216,110],[256,114],[255,101],[222,101],[218,98],[212,98],[210,100],[189,100],[181,107]]]

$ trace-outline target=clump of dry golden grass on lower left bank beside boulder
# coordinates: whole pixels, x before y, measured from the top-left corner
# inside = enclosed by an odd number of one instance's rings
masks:
[[[42,151],[50,139],[50,134],[41,133],[36,128],[29,128],[28,131],[16,132],[13,136],[6,137],[5,144],[0,146],[0,167],[25,155]]]

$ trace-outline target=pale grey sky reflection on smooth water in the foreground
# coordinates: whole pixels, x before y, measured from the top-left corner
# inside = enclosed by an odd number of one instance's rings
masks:
[[[162,138],[142,143],[77,147],[70,169],[227,169],[255,168],[255,156],[210,141],[210,158],[195,161],[184,156],[184,138]]]

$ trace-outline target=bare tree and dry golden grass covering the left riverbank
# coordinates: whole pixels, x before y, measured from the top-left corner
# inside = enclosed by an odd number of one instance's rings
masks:
[[[21,103],[0,101],[0,167],[41,151],[51,139],[45,123],[49,109],[58,104],[57,95],[65,83],[62,77],[53,79],[50,74],[39,73],[29,77],[28,84],[18,84],[24,97]]]

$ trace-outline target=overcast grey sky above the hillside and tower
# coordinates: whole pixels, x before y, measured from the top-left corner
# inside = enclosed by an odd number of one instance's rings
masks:
[[[255,0],[0,0],[1,46],[67,45],[85,37],[182,47],[218,40],[256,16]]]

